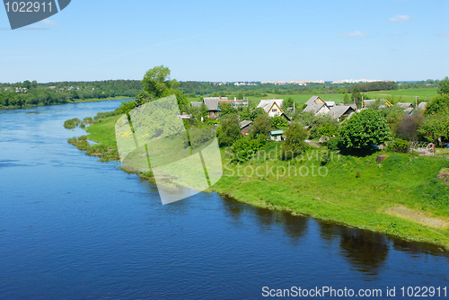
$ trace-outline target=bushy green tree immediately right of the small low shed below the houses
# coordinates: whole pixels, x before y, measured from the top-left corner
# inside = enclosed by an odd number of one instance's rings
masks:
[[[307,131],[298,123],[292,123],[286,129],[286,140],[281,146],[281,159],[289,160],[302,154],[307,150],[308,145],[304,140],[307,137]]]

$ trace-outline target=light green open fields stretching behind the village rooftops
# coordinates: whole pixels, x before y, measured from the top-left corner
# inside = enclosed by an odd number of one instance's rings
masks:
[[[407,90],[395,90],[395,91],[377,91],[377,92],[365,92],[370,99],[385,99],[388,101],[394,102],[409,102],[415,103],[415,97],[418,96],[418,100],[420,101],[430,101],[433,97],[436,96],[436,88],[430,89],[407,89]],[[344,103],[345,94],[343,93],[318,93],[318,94],[273,94],[269,93],[268,97],[249,97],[250,106],[255,107],[259,103],[260,99],[286,99],[291,97],[295,101],[295,105],[297,108],[301,108],[301,106],[310,99],[312,96],[320,96],[320,98],[324,101],[335,101],[336,103]],[[348,94],[348,98],[351,95]],[[229,99],[233,99],[233,97],[229,97]],[[189,98],[189,101],[199,101],[199,97],[197,98]],[[349,101],[350,102],[350,101]]]

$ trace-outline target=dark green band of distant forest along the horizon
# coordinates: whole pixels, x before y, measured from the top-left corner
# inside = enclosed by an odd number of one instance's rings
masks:
[[[187,81],[180,82],[178,89],[186,97],[203,97],[236,95],[265,97],[271,94],[301,93],[352,93],[357,85],[361,92],[386,91],[436,87],[438,80],[428,79],[421,82],[375,82],[365,84],[260,84],[246,83],[209,83]],[[36,81],[24,81],[16,84],[0,84],[0,108],[19,108],[35,105],[52,105],[94,99],[110,99],[114,97],[134,98],[140,93],[143,85],[138,80],[107,80],[95,82],[59,82],[38,84]]]

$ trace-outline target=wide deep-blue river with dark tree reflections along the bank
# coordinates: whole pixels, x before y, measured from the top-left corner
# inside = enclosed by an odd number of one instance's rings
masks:
[[[262,299],[291,287],[445,298],[449,255],[436,247],[215,193],[163,206],[153,184],[66,143],[84,133],[66,119],[119,102],[0,111],[0,299]]]

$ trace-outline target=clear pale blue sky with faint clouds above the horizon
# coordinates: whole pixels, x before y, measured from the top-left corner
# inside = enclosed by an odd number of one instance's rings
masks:
[[[0,82],[379,79],[449,75],[448,0],[72,0],[12,31],[0,7]]]

